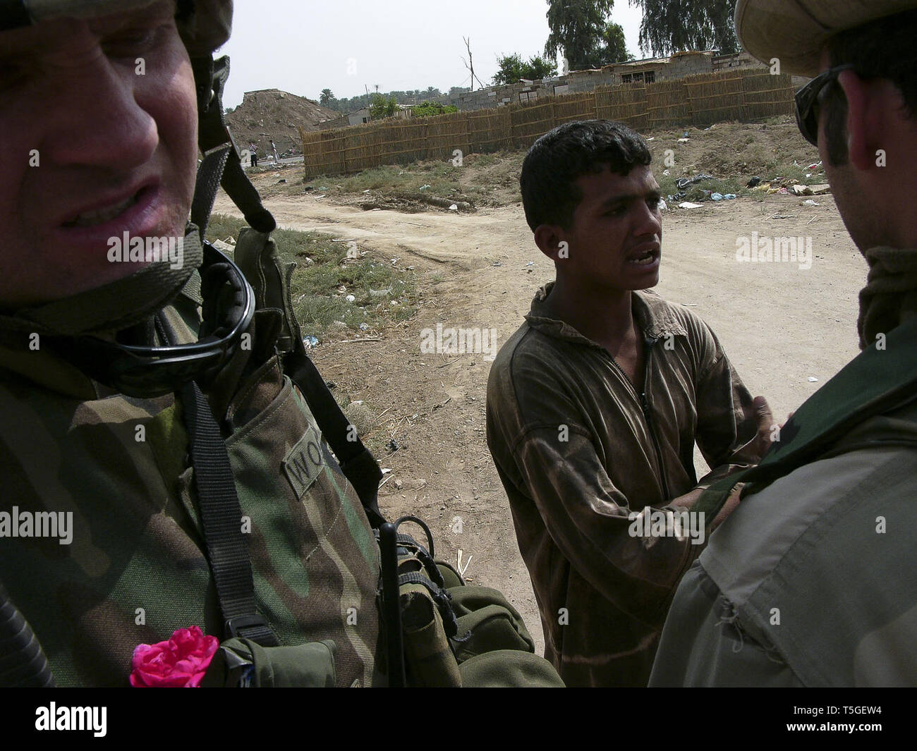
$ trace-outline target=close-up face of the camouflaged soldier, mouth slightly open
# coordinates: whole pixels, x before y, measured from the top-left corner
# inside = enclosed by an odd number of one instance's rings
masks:
[[[197,165],[174,0],[0,32],[0,308],[138,271],[113,237],[183,237]]]

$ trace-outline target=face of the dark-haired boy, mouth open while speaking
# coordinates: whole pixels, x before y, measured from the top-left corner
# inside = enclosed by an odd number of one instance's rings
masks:
[[[659,282],[662,217],[659,186],[649,167],[626,177],[608,170],[581,175],[582,200],[561,239],[569,258],[558,274],[575,277],[581,288],[597,291],[645,290]]]

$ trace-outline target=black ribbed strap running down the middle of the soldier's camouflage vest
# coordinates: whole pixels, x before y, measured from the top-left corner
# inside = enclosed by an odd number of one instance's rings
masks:
[[[226,638],[241,636],[261,646],[276,646],[277,636],[255,610],[249,543],[242,533],[242,508],[223,436],[204,393],[194,381],[182,387],[182,405],[207,559],[214,574]]]

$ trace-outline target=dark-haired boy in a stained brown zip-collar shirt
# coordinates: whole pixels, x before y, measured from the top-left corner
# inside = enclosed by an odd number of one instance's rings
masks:
[[[488,446],[546,657],[569,686],[646,685],[668,602],[728,509],[686,512],[768,446],[767,403],[710,327],[648,291],[662,240],[649,163],[644,139],[607,120],[567,123],[529,150],[525,218],[557,281],[487,385]],[[714,468],[701,482],[695,442]]]

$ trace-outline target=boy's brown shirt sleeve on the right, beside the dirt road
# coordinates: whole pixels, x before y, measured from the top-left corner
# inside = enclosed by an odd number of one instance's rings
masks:
[[[696,319],[700,369],[696,387],[697,445],[712,471],[698,483],[715,480],[761,460],[754,446],[757,417],[752,395],[726,357],[709,326]]]

